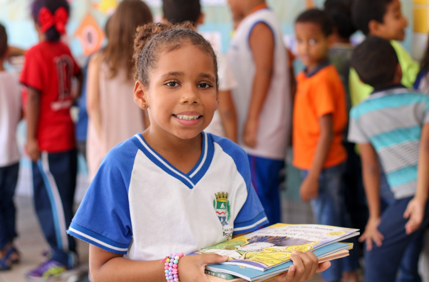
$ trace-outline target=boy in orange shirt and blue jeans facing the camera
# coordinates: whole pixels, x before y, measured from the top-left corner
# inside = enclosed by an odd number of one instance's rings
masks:
[[[332,23],[323,11],[307,10],[295,21],[298,57],[306,66],[298,74],[293,110],[293,160],[304,179],[299,191],[311,200],[317,224],[350,226],[344,204],[342,176],[346,151],[343,130],[347,123],[344,87],[335,66],[329,63],[333,44]],[[357,281],[356,249],[333,261],[322,273],[325,281]]]

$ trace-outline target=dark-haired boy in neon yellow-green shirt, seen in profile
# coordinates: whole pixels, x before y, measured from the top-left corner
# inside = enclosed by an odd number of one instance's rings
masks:
[[[401,2],[399,0],[355,0],[352,18],[356,28],[366,36],[375,35],[390,41],[401,65],[401,84],[411,88],[419,66],[398,42],[404,40],[405,28],[408,25],[401,11]],[[352,105],[357,105],[373,90],[371,86],[359,80],[354,69],[350,70],[349,84]]]

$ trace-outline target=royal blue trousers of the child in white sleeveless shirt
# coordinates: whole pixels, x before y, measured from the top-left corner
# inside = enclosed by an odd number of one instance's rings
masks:
[[[270,224],[281,221],[280,171],[285,163],[281,160],[265,159],[248,155],[252,184],[265,210]]]

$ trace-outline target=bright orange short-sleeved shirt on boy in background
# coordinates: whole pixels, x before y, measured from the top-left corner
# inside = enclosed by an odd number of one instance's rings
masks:
[[[320,138],[319,118],[332,114],[334,138],[323,168],[333,167],[347,159],[342,145],[347,124],[344,87],[334,65],[324,63],[311,74],[296,77],[297,91],[293,111],[293,161],[299,169],[311,168]]]

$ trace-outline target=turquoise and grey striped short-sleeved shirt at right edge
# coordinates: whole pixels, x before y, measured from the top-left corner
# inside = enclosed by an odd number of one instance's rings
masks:
[[[421,127],[429,122],[429,95],[403,86],[374,91],[350,112],[350,142],[371,144],[395,199],[413,196]]]

